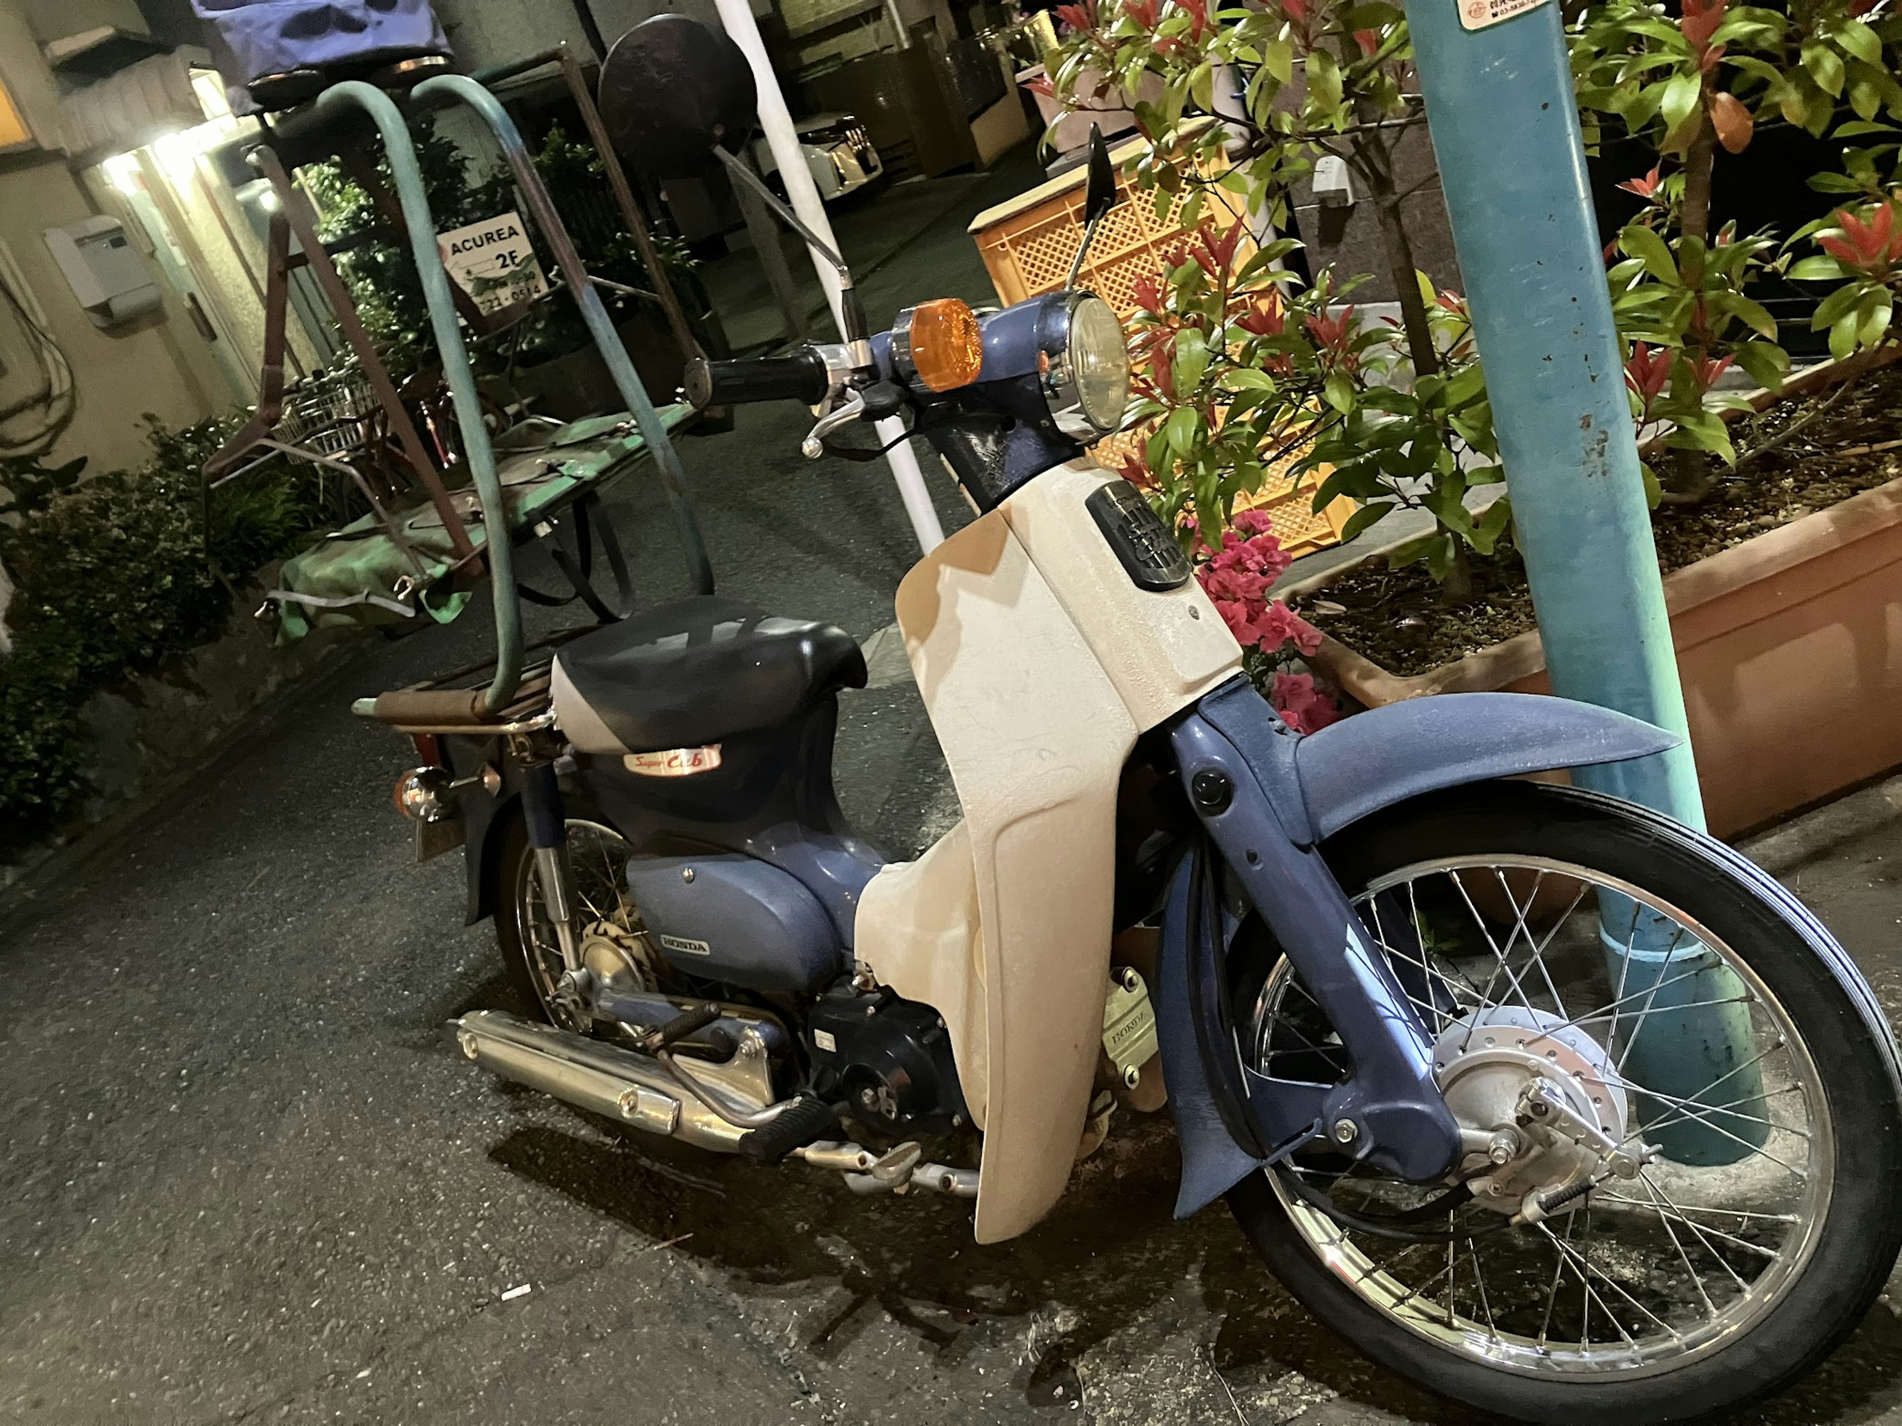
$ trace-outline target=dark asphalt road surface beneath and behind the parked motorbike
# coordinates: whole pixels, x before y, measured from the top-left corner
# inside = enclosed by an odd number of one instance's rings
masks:
[[[873,316],[987,299],[964,221],[1010,183],[888,260]],[[881,466],[806,464],[801,432],[755,409],[685,443],[721,589],[865,639],[909,527]],[[650,479],[609,504],[645,597],[679,591]],[[491,928],[462,926],[458,856],[413,861],[405,745],[348,702],[481,658],[485,620],[359,643],[0,903],[0,1420],[1476,1420],[1318,1327],[1223,1209],[1170,1223],[1166,1120],[978,1247],[968,1205],[671,1152],[472,1070],[445,1023],[512,1006]],[[926,844],[955,799],[915,690],[841,724],[846,812]],[[1902,791],[1767,854],[1902,1012]],[[1902,1422],[1894,1289],[1754,1420]]]

